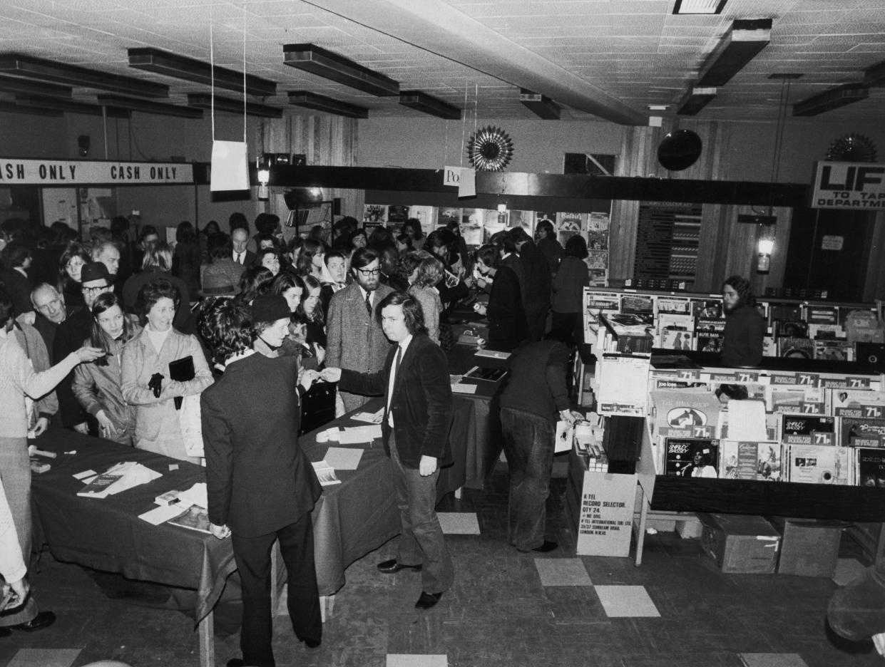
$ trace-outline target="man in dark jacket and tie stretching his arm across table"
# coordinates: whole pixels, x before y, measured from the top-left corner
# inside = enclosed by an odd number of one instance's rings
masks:
[[[321,377],[357,394],[387,399],[381,433],[393,461],[403,533],[396,558],[378,563],[378,570],[421,571],[415,609],[430,609],[450,588],[453,576],[434,509],[439,467],[451,457],[449,365],[443,350],[427,337],[421,306],[412,295],[392,292],[381,299],[378,311],[384,334],[396,343],[384,368],[373,373],[327,368]]]

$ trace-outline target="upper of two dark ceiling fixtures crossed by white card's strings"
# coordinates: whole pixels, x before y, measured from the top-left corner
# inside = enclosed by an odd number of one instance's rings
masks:
[[[212,71],[214,69],[215,85],[218,88],[227,88],[227,90],[242,93],[242,72],[218,65],[213,68],[210,63],[204,63],[202,60],[186,58],[160,49],[129,49],[128,54],[130,67],[172,76],[175,79],[195,81],[206,86],[212,85]],[[259,97],[276,95],[276,83],[273,81],[252,74],[246,74],[245,79],[246,92],[249,95]]]

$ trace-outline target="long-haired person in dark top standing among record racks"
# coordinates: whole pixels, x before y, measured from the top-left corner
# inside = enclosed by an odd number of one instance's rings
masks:
[[[726,279],[722,284],[722,310],[725,311],[722,364],[758,366],[762,361],[766,322],[756,310],[750,280],[741,276]]]

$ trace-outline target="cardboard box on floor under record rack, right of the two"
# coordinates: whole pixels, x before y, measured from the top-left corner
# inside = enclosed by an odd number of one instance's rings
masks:
[[[808,518],[769,517],[781,533],[781,559],[778,574],[799,577],[827,577],[839,562],[839,542],[849,524]]]

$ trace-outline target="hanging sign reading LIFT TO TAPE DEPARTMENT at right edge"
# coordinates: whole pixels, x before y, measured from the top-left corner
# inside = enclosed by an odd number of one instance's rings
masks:
[[[818,162],[812,209],[885,210],[885,165]]]

